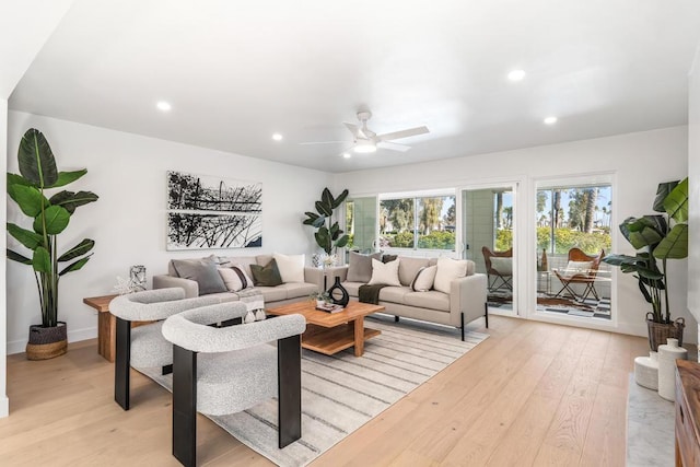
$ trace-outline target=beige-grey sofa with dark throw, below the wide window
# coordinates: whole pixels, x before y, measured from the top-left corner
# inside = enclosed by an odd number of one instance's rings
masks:
[[[450,293],[436,290],[415,292],[411,281],[422,267],[438,264],[436,258],[413,258],[399,256],[398,276],[400,287],[385,287],[380,292],[378,304],[385,313],[406,318],[420,319],[447,326],[455,326],[463,331],[464,326],[481,316],[486,317],[489,327],[487,308],[487,277],[475,272],[474,261],[468,261],[467,276],[455,279],[450,284]],[[348,291],[350,300],[358,300],[358,291],[364,282],[347,280],[348,266],[334,268],[332,276],[340,277],[342,287]],[[335,279],[334,279],[335,280]],[[332,281],[330,282],[332,283]]]

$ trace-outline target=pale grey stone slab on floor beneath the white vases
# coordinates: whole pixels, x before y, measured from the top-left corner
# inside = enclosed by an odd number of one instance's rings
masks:
[[[627,467],[675,465],[674,402],[634,382],[630,374],[627,396]]]

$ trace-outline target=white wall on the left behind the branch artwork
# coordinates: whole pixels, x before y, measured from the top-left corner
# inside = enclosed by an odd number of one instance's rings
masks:
[[[116,277],[128,277],[131,265],[144,265],[150,281],[154,273],[165,273],[167,260],[174,257],[315,252],[311,229],[302,225],[303,213],[330,184],[329,174],[15,112],[9,114],[8,171],[18,172],[16,148],[32,127],[48,139],[59,170],[88,168],[88,175],[68,189],[100,196],[97,202],[75,211],[59,240],[60,249],[83,237],[96,243],[90,262],[60,282],[59,319],[68,323],[70,341],[93,338],[97,332],[96,313],[82,299],[110,293]],[[168,170],[262,182],[262,247],[166,252]],[[8,220],[31,225],[12,200],[8,201]],[[16,245],[13,240],[9,243]],[[7,284],[8,353],[22,352],[28,326],[40,320],[31,268],[9,261]]]

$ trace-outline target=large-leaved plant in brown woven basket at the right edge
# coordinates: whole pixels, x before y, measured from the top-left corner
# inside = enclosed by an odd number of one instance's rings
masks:
[[[666,261],[688,257],[688,178],[660,184],[653,209],[660,214],[628,218],[620,224],[625,238],[641,252],[608,255],[603,260],[639,281],[640,292],[652,305],[646,324],[649,346],[656,351],[669,337],[682,343],[685,319],[670,318]]]

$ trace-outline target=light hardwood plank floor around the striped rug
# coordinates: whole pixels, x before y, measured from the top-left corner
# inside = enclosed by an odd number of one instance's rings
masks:
[[[494,316],[479,345],[318,457],[322,466],[623,466],[639,337]],[[485,329],[475,329],[485,330]],[[96,340],[45,362],[8,358],[2,466],[177,466],[171,396],[132,372],[132,409],[113,400]],[[198,465],[269,466],[208,419]]]

